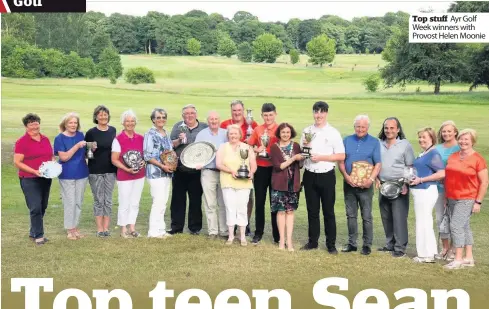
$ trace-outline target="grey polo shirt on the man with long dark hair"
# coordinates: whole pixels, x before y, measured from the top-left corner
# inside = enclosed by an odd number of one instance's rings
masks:
[[[404,176],[404,168],[414,163],[413,147],[407,139],[396,139],[396,143],[387,148],[386,141],[380,141],[380,157],[382,168],[381,181],[400,179]]]

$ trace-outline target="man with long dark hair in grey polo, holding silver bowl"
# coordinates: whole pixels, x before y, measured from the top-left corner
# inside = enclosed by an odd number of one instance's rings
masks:
[[[382,168],[376,186],[380,187],[380,216],[386,239],[385,246],[379,248],[379,251],[391,252],[393,257],[403,257],[408,244],[409,214],[409,190],[403,182],[406,168],[413,165],[414,151],[396,117],[384,120],[379,139]],[[389,187],[396,187],[399,181],[400,192],[390,194]]]

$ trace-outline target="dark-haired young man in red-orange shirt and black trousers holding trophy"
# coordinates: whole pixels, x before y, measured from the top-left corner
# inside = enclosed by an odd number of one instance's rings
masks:
[[[267,190],[269,200],[271,201],[272,190],[272,161],[270,160],[270,146],[278,141],[275,136],[278,124],[275,122],[277,110],[272,103],[265,103],[261,108],[261,115],[264,124],[258,126],[253,131],[253,134],[248,139],[248,144],[253,146],[256,153],[256,177],[253,182],[255,190],[255,235],[252,243],[258,244],[263,237],[265,228],[265,201],[267,199]],[[271,210],[271,207],[269,208]],[[277,227],[277,213],[271,213],[272,219],[272,234],[275,243],[280,241],[280,234]]]

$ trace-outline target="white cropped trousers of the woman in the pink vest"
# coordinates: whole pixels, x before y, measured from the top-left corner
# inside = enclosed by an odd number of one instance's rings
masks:
[[[117,181],[119,208],[117,225],[136,224],[139,213],[139,201],[144,188],[144,178],[136,180]]]

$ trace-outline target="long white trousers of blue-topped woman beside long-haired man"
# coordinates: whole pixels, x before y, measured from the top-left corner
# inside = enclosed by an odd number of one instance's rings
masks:
[[[427,189],[412,189],[414,213],[416,215],[416,251],[418,257],[433,258],[437,254],[435,231],[433,230],[433,208],[438,199],[436,185]]]

